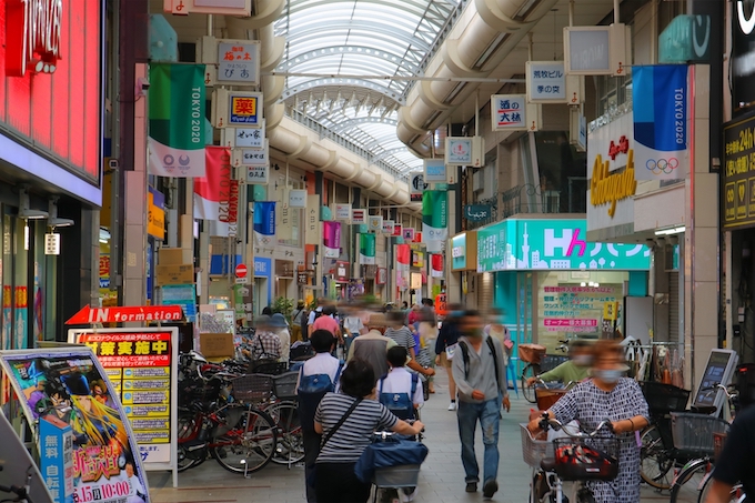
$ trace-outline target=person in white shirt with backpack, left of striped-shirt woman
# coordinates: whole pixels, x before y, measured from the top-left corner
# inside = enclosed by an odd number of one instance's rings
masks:
[[[314,431],[314,413],[325,393],[335,391],[341,376],[341,363],[331,355],[335,338],[326,330],[315,330],[310,336],[315,355],[304,362],[296,385],[299,419],[304,439],[304,479],[306,501],[315,503],[314,464],[320,454],[321,435]]]

